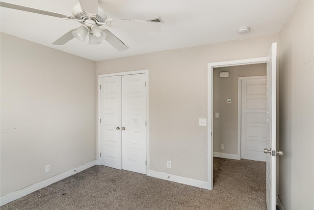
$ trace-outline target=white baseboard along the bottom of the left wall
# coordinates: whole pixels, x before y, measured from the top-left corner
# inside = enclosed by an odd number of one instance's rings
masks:
[[[30,194],[32,192],[35,192],[36,190],[39,190],[39,189],[44,188],[44,187],[46,187],[46,186],[48,186],[50,184],[53,184],[54,182],[57,182],[57,181],[65,179],[67,177],[70,177],[72,175],[75,175],[78,172],[81,172],[81,171],[83,171],[85,169],[88,169],[88,168],[90,168],[90,167],[92,167],[94,165],[96,165],[96,160],[93,160],[93,161],[91,161],[89,163],[86,163],[84,165],[78,166],[78,167],[76,167],[74,169],[71,169],[69,171],[63,172],[61,174],[55,175],[55,176],[53,176],[51,178],[48,178],[46,180],[39,181],[37,183],[34,183],[32,185],[29,185],[27,187],[19,189],[19,190],[15,191],[15,192],[12,192],[12,193],[9,193],[9,194],[7,194],[5,196],[2,196],[0,198],[0,206],[3,206],[5,204],[7,204],[7,203],[15,201],[16,199],[22,198],[22,197],[24,197],[24,196],[26,196],[26,195],[28,195],[28,194]]]

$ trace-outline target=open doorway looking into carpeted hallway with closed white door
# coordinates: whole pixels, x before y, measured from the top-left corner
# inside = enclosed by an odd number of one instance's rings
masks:
[[[266,63],[213,68],[212,116],[213,186],[266,208]]]

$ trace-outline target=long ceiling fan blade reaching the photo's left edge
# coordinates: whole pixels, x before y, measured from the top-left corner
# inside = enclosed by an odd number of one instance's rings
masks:
[[[67,15],[63,15],[63,14],[59,14],[59,13],[55,13],[55,12],[50,12],[50,11],[46,11],[46,10],[41,10],[41,9],[35,9],[35,8],[27,7],[27,6],[21,6],[18,4],[13,4],[13,3],[8,3],[8,2],[3,2],[3,1],[0,1],[0,6],[6,7],[6,8],[11,8],[11,9],[22,10],[22,11],[26,11],[26,12],[33,12],[33,13],[37,13],[37,14],[53,16],[53,17],[57,17],[57,18],[74,19],[71,16],[67,16]]]

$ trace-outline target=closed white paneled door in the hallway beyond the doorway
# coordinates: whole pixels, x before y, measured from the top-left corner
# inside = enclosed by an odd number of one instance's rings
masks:
[[[266,161],[266,77],[241,80],[241,158]]]

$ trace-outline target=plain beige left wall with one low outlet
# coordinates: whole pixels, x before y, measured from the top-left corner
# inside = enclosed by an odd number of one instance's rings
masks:
[[[1,196],[96,159],[94,61],[1,33],[0,67]]]

